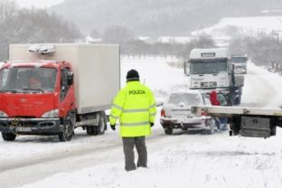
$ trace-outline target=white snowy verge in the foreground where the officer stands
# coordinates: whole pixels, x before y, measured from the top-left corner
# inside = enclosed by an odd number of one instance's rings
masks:
[[[278,135],[281,135],[281,130]],[[204,138],[204,139],[203,139]],[[196,140],[196,141],[195,141]],[[260,138],[179,135],[147,142],[149,168],[125,172],[123,161],[55,174],[38,187],[280,187],[281,136]],[[158,147],[158,149],[155,149]],[[120,148],[121,149],[121,148]],[[108,152],[109,155],[116,153]]]

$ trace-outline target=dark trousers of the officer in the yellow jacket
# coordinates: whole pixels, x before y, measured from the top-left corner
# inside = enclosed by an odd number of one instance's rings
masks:
[[[147,151],[146,151],[146,137],[122,137],[123,149],[125,154],[126,171],[136,170],[134,146],[136,146],[138,161],[137,167],[146,167]]]

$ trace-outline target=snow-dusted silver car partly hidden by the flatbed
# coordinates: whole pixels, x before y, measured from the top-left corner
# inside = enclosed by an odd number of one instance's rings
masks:
[[[211,101],[207,95],[202,95],[199,90],[188,90],[173,92],[161,110],[161,125],[164,127],[166,135],[172,135],[173,130],[181,128],[205,129],[209,134],[213,134],[215,120],[203,113],[195,116],[191,113],[191,106],[211,106]]]

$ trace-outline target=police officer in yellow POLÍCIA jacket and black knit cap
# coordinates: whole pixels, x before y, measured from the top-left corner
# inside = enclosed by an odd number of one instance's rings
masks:
[[[116,130],[119,118],[119,134],[122,137],[126,171],[147,166],[146,136],[151,135],[155,121],[155,99],[151,89],[139,81],[136,70],[127,72],[127,85],[120,89],[110,110],[110,127]],[[138,160],[134,161],[134,146]]]

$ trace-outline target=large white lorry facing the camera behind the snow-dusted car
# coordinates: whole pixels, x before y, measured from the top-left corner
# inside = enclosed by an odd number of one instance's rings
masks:
[[[227,49],[193,49],[184,73],[190,76],[190,89],[221,90],[230,105],[240,104],[244,77],[234,74]]]

